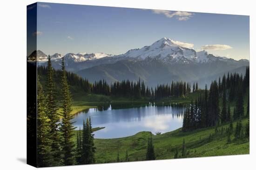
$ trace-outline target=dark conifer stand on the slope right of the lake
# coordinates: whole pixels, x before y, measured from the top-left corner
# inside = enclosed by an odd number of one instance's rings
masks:
[[[247,113],[244,113],[244,95],[249,90],[249,67],[246,68],[245,76],[228,74],[222,76],[222,81],[214,81],[210,89],[205,86],[204,93],[191,100],[184,112],[182,130],[195,130],[202,127],[216,126],[217,123],[226,123],[232,120],[249,117],[249,100]],[[235,101],[236,106],[231,113],[230,103]],[[220,108],[222,102],[222,108]]]

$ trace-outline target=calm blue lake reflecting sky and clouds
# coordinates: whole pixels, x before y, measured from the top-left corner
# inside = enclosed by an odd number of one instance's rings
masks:
[[[83,120],[91,116],[93,127],[105,127],[94,132],[95,138],[121,138],[141,131],[164,133],[180,128],[183,111],[184,108],[180,105],[152,106],[149,104],[119,109],[114,109],[109,105],[78,113],[73,121],[76,121],[74,126],[79,129],[79,127],[82,128]]]

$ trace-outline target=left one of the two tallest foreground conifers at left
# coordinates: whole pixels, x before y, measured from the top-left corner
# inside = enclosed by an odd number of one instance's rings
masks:
[[[47,81],[46,81],[46,107],[47,116],[50,119],[50,134],[52,140],[52,152],[54,157],[55,166],[60,166],[61,164],[61,136],[58,133],[58,122],[60,121],[59,115],[57,113],[57,101],[56,101],[56,88],[54,83],[54,69],[52,67],[51,58],[48,56],[47,62]]]

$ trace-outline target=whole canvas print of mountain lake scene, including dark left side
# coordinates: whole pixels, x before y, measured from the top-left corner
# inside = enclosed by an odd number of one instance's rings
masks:
[[[28,164],[240,154],[249,16],[27,6]]]

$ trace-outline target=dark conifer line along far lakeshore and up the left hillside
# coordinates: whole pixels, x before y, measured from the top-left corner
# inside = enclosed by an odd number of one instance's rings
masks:
[[[61,70],[52,70],[52,76],[57,84],[60,84]],[[172,82],[169,84],[160,84],[155,88],[148,87],[144,81],[140,79],[138,81],[123,80],[120,82],[108,83],[106,80],[95,81],[90,83],[87,79],[76,75],[72,72],[67,72],[67,82],[71,87],[77,87],[85,93],[103,94],[116,97],[128,97],[141,99],[148,98],[150,100],[159,100],[161,98],[170,97],[184,97],[191,92],[199,90],[198,84],[193,84],[193,89],[189,82]],[[47,66],[38,66],[38,75],[46,82]],[[44,83],[43,83],[44,85]],[[43,86],[45,87],[45,86]],[[58,89],[57,89],[58,90]],[[73,90],[73,88],[71,89]]]

